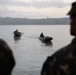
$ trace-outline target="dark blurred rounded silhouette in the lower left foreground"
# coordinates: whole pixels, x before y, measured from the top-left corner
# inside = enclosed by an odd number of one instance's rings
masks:
[[[0,39],[0,75],[11,75],[15,60],[11,49]]]

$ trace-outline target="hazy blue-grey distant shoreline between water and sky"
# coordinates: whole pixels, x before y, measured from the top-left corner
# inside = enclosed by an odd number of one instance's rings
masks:
[[[68,25],[68,18],[43,18],[43,19],[28,19],[28,18],[11,18],[1,17],[0,25]]]

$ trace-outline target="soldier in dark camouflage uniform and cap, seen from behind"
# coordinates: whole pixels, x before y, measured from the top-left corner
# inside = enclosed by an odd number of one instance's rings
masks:
[[[72,42],[49,56],[44,62],[41,75],[76,75],[76,2],[69,11]]]

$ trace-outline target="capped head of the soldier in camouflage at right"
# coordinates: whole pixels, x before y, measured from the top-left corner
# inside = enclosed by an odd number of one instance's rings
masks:
[[[72,3],[71,10],[67,15],[70,15],[70,34],[76,36],[76,2]]]

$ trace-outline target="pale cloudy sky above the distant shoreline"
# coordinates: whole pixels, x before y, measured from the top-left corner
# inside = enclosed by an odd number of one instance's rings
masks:
[[[13,18],[62,18],[76,0],[0,0],[0,16]]]

